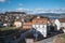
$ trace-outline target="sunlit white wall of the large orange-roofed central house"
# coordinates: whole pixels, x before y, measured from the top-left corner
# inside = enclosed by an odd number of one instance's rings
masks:
[[[44,38],[47,38],[47,25],[32,25],[37,31],[39,31]]]

